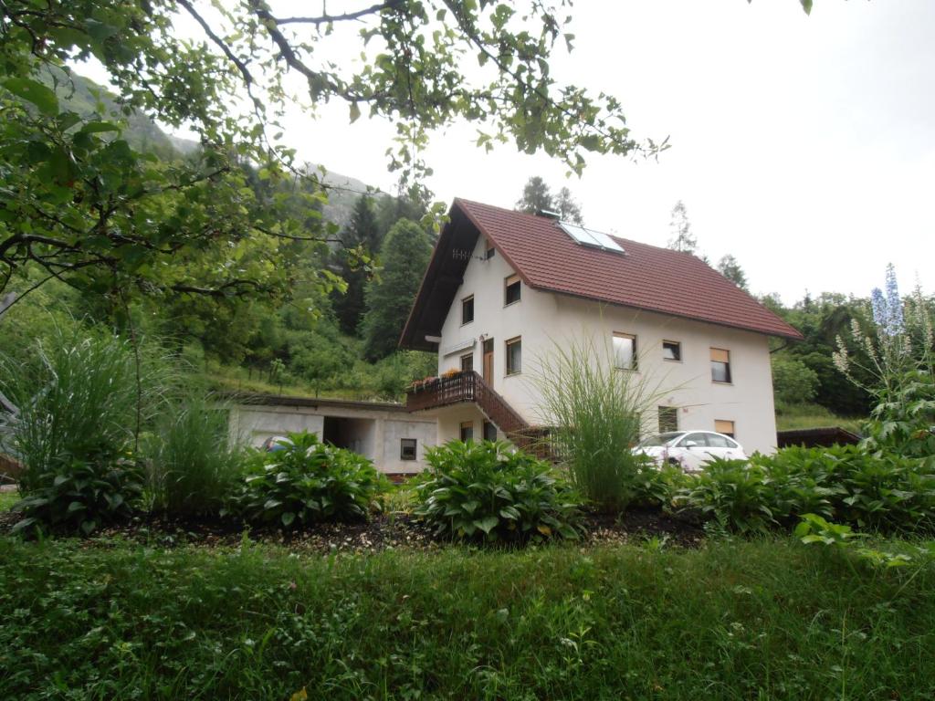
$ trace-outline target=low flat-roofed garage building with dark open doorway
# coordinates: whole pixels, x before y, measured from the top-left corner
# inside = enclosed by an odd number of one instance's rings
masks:
[[[271,436],[309,431],[364,455],[390,474],[425,468],[425,448],[437,444],[434,417],[379,402],[345,402],[300,397],[251,395],[231,411],[231,434],[252,446]],[[415,438],[416,459],[402,460],[403,438]]]

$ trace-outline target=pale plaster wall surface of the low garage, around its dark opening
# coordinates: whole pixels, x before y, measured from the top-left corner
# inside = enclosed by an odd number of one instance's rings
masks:
[[[438,423],[434,417],[404,411],[367,408],[282,407],[241,405],[231,411],[231,433],[252,446],[270,436],[309,431],[321,437],[324,418],[352,419],[349,427],[353,448],[383,472],[413,473],[424,469],[425,448],[437,445]],[[416,439],[416,460],[402,460],[401,439]]]

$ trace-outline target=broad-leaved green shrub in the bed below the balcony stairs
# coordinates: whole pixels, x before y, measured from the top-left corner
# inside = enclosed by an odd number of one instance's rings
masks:
[[[581,500],[548,463],[507,443],[451,441],[426,451],[414,513],[436,535],[486,540],[578,536]]]

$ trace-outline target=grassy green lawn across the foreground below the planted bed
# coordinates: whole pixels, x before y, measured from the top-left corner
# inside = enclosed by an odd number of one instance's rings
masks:
[[[0,539],[5,698],[929,699],[935,567],[777,539],[297,557]]]

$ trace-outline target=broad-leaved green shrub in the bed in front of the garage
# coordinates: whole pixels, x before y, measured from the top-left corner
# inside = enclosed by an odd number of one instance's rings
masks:
[[[254,451],[250,474],[227,510],[248,522],[284,528],[366,519],[387,486],[367,458],[326,445],[314,434],[289,434],[280,444],[279,451]]]

